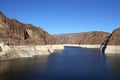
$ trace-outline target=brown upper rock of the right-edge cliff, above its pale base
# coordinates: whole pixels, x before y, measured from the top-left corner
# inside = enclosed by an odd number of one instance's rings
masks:
[[[104,45],[120,45],[120,28],[115,29],[104,41]]]

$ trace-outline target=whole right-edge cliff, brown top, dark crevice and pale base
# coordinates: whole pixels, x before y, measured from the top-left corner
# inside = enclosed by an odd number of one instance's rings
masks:
[[[102,43],[102,51],[105,53],[120,54],[120,28],[115,29]]]

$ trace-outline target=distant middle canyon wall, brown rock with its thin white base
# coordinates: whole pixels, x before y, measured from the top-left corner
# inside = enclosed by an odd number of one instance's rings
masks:
[[[108,32],[91,31],[83,33],[59,34],[54,36],[60,39],[65,46],[100,49],[101,44],[109,35],[110,33]]]

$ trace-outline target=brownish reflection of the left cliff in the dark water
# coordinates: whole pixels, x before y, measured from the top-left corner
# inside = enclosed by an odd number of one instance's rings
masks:
[[[42,73],[48,56],[0,61],[0,80],[25,80],[28,76]]]

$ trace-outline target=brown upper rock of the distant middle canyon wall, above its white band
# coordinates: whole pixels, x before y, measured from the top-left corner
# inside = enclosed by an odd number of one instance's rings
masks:
[[[75,34],[54,35],[64,44],[101,44],[109,35],[107,32],[93,31]]]

